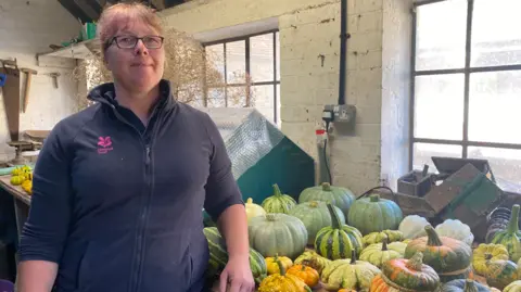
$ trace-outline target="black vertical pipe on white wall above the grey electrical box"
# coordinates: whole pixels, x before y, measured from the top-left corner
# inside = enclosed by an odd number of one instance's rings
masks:
[[[347,0],[341,0],[340,7],[340,74],[339,74],[339,104],[345,104],[345,72],[347,67]]]

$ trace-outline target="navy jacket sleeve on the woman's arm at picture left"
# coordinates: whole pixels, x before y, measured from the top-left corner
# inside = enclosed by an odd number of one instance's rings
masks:
[[[71,134],[60,122],[43,142],[33,174],[29,216],[20,240],[20,261],[59,263],[72,212]]]

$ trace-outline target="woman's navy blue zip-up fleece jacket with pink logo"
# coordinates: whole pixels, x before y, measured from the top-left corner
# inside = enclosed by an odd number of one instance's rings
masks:
[[[202,291],[202,208],[242,196],[209,116],[160,88],[147,127],[105,84],[45,141],[20,257],[58,263],[58,292]]]

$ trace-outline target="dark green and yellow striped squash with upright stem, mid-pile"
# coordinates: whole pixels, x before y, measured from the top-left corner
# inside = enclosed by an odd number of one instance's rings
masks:
[[[360,253],[364,249],[360,231],[342,224],[331,203],[328,203],[328,208],[333,217],[333,223],[318,231],[315,239],[315,251],[329,259],[347,258],[353,251]]]

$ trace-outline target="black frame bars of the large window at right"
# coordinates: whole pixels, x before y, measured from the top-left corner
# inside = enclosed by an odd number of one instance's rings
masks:
[[[484,72],[501,72],[501,71],[521,71],[521,64],[514,65],[499,65],[499,66],[471,66],[471,49],[472,49],[472,16],[474,0],[467,0],[467,29],[466,29],[466,48],[465,48],[465,67],[450,68],[450,69],[416,69],[416,56],[417,56],[417,8],[422,5],[434,4],[437,2],[444,2],[447,0],[423,0],[416,2],[412,7],[412,37],[411,37],[411,61],[410,61],[410,104],[409,104],[409,170],[414,169],[414,155],[415,143],[430,143],[430,144],[444,144],[444,145],[461,145],[462,158],[468,158],[469,147],[487,147],[508,150],[521,150],[521,143],[499,143],[499,142],[485,142],[485,141],[471,141],[469,140],[469,91],[470,91],[470,75],[472,73]],[[431,138],[417,138],[415,137],[415,100],[416,100],[416,77],[429,76],[429,75],[448,75],[448,74],[465,74],[465,91],[463,91],[463,132],[461,140],[449,139],[431,139]]]

